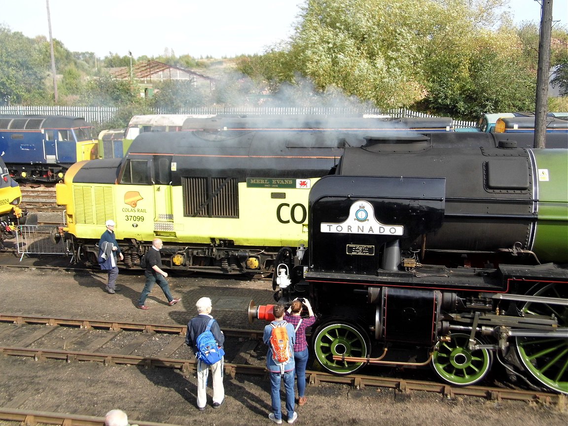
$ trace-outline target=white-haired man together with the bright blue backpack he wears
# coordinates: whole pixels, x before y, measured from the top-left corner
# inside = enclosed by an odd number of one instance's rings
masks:
[[[197,407],[205,410],[207,405],[207,376],[213,377],[213,408],[219,408],[225,399],[223,388],[223,343],[225,336],[219,324],[210,315],[211,299],[202,297],[195,304],[198,315],[187,323],[185,343],[191,346],[197,360]]]

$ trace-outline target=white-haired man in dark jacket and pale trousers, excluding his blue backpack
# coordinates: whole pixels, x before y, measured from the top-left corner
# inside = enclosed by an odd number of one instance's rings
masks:
[[[207,328],[209,320],[213,317],[211,314],[211,299],[202,297],[195,303],[198,315],[191,318],[187,323],[187,334],[185,336],[185,343],[191,346],[194,352],[197,352],[197,337],[201,335]],[[211,325],[211,333],[215,337],[217,345],[223,346],[225,336],[219,328],[217,321],[213,321]],[[196,356],[197,358],[197,356]],[[207,365],[201,360],[197,360],[197,408],[200,411],[205,410],[207,404],[207,375],[211,369],[213,375],[213,408],[219,408],[225,399],[225,390],[223,387],[223,360],[216,362],[212,365]]]

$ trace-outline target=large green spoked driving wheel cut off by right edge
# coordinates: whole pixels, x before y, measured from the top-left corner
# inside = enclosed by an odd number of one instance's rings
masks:
[[[534,296],[566,298],[566,284],[550,283],[529,292]],[[568,307],[539,302],[523,306],[525,315],[552,316],[558,327],[568,324]],[[568,336],[566,338],[517,337],[517,351],[527,371],[550,389],[568,394]]]

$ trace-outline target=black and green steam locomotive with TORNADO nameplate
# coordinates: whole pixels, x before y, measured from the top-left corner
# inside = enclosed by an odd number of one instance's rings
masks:
[[[431,365],[466,386],[499,363],[568,393],[566,149],[439,137],[346,148],[310,190],[307,252],[277,258],[275,300],[310,298],[335,374]]]

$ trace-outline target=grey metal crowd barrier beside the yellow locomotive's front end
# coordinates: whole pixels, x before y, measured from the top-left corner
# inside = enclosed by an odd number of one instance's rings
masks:
[[[20,262],[27,254],[71,254],[69,241],[53,234],[53,225],[19,225],[16,246]]]

